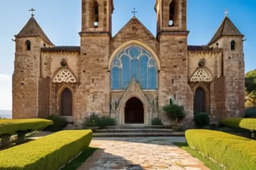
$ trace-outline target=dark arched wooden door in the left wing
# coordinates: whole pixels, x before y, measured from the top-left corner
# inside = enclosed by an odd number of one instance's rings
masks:
[[[60,104],[61,116],[72,117],[73,115],[73,97],[72,92],[68,88],[64,89],[61,93],[61,104]]]

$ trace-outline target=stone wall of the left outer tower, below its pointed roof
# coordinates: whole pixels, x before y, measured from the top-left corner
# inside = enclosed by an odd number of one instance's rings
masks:
[[[26,50],[26,40],[31,51]],[[40,38],[16,38],[13,73],[13,118],[38,117],[38,78],[40,76]]]

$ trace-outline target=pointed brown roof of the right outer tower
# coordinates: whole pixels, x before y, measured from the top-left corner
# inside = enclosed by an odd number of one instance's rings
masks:
[[[216,40],[218,40],[221,36],[243,36],[241,32],[237,29],[237,27],[233,24],[233,22],[227,16],[224,18],[218,30],[215,32],[211,41],[208,45],[211,45]]]

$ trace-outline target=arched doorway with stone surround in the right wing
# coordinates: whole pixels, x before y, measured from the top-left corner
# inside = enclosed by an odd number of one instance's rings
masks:
[[[202,94],[203,93],[203,94]],[[193,94],[194,94],[194,112],[205,112],[210,114],[210,108],[211,108],[211,101],[210,101],[210,90],[209,87],[207,87],[207,85],[205,85],[205,83],[200,82],[197,85],[195,85],[195,87],[193,88]],[[195,105],[196,104],[200,104],[200,102],[202,102],[202,98],[197,98],[197,97],[204,97],[204,103],[202,105],[204,105],[204,109],[202,110],[196,110]],[[199,103],[198,103],[199,102]],[[202,106],[201,105],[201,106]]]

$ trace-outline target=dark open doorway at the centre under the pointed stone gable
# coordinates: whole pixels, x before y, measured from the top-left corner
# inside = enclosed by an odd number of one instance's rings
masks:
[[[144,124],[143,103],[137,97],[132,97],[125,104],[125,124]]]

